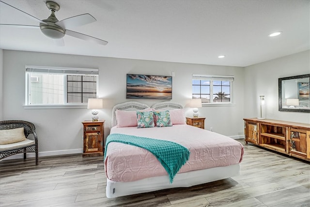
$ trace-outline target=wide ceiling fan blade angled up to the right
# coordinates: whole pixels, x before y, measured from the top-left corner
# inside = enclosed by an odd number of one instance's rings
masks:
[[[62,19],[56,24],[64,29],[70,29],[77,26],[82,26],[96,21],[96,19],[90,14],[83,14],[78,16],[72,16],[66,19]]]

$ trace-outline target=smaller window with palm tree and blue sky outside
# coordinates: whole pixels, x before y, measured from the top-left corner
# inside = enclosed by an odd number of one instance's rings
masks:
[[[193,74],[192,98],[201,98],[202,104],[231,103],[233,80],[233,76]]]

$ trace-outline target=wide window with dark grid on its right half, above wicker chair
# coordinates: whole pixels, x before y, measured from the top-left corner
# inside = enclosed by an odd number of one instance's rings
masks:
[[[86,104],[97,79],[98,69],[26,66],[26,105]]]

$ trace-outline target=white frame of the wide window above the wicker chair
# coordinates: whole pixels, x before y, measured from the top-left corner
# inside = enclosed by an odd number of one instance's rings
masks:
[[[61,74],[61,75],[92,75],[96,77],[96,97],[98,97],[98,76],[99,70],[97,68],[71,68],[71,67],[50,67],[50,66],[25,66],[25,109],[47,109],[47,108],[87,108],[87,103],[67,103],[67,76],[64,76],[64,104],[30,104],[31,73],[42,74]]]

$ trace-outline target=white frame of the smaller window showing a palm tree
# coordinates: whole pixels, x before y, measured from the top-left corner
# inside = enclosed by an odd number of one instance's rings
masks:
[[[202,103],[203,106],[208,106],[208,105],[234,105],[233,104],[234,76],[192,74],[192,80],[210,80],[210,103]],[[213,102],[213,99],[214,99],[214,97],[213,97],[213,80],[230,81],[230,102]],[[193,94],[193,92],[192,92],[192,94]]]

